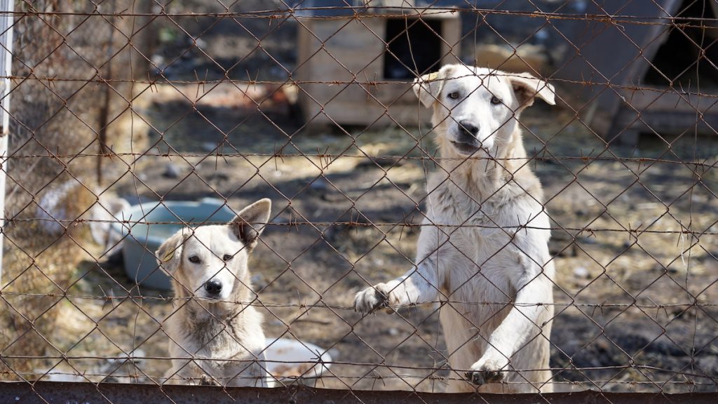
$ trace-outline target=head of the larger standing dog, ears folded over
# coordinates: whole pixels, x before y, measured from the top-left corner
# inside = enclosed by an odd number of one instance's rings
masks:
[[[554,87],[528,73],[512,74],[466,65],[445,65],[414,81],[421,104],[433,109],[439,145],[458,155],[495,157],[510,141],[516,118],[538,97],[554,105]]]

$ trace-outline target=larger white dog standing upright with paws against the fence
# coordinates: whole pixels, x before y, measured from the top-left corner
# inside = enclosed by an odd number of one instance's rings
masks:
[[[549,218],[517,119],[535,97],[553,105],[554,88],[526,73],[446,65],[414,92],[433,110],[442,157],[427,185],[431,226],[416,267],[358,293],[355,309],[444,300],[449,391],[473,391],[472,382],[482,392],[549,392]]]

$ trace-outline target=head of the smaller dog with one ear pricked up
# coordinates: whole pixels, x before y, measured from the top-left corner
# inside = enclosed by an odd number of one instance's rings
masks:
[[[157,260],[180,283],[179,288],[200,298],[228,300],[238,292],[236,288],[249,287],[249,253],[270,211],[271,201],[261,199],[228,224],[177,231],[157,249]]]

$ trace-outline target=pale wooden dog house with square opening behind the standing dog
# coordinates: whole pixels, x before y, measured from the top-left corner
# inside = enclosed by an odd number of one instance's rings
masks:
[[[457,63],[457,10],[305,3],[309,6],[297,14],[299,55],[293,74],[305,121],[363,126],[416,125],[420,117],[428,121],[429,114],[418,113],[411,82]]]

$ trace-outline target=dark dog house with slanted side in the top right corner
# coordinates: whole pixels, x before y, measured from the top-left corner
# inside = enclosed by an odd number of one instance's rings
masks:
[[[564,100],[608,142],[717,134],[718,3],[602,0],[587,9],[614,14],[635,17],[587,19],[565,33],[572,50],[554,74],[568,83]]]

